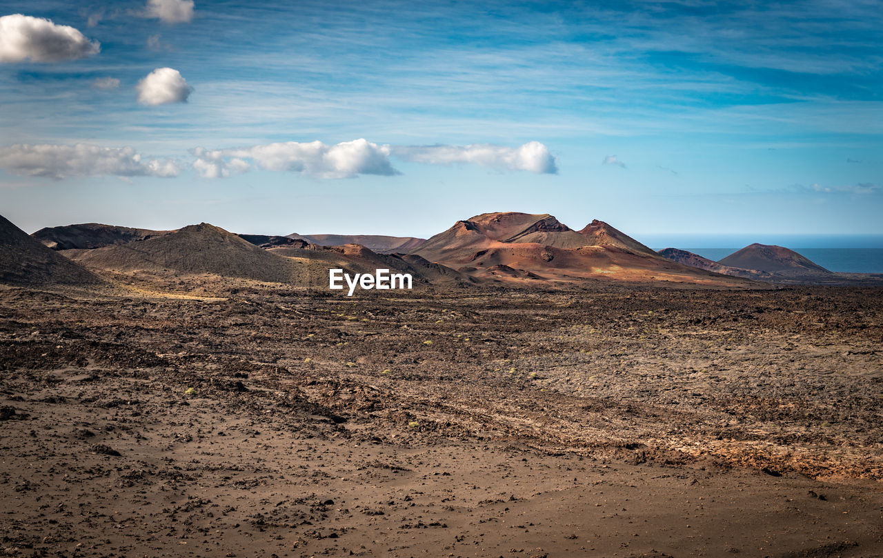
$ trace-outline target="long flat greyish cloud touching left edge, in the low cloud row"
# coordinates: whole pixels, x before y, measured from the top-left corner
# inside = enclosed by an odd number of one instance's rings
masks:
[[[142,157],[132,147],[18,144],[0,147],[0,169],[22,177],[177,177],[172,159]]]

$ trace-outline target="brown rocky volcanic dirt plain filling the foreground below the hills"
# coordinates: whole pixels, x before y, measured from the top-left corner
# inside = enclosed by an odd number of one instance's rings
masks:
[[[0,290],[0,555],[883,556],[883,290]]]

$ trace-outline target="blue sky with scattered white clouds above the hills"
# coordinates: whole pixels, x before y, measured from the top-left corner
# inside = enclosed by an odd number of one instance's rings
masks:
[[[0,0],[0,215],[883,234],[883,8]]]

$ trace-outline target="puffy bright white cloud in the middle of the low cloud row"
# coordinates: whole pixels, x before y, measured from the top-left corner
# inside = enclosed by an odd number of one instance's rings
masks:
[[[360,174],[399,174],[389,162],[389,146],[366,139],[328,146],[321,141],[288,141],[240,149],[208,150],[197,147],[193,168],[207,178],[229,177],[252,167],[287,170],[322,178],[347,178]]]

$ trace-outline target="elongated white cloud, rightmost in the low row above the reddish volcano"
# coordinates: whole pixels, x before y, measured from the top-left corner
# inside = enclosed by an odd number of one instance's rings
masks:
[[[428,164],[472,163],[500,170],[529,170],[540,174],[558,172],[555,157],[539,141],[529,141],[521,147],[492,144],[398,146],[392,147],[392,155],[405,161]]]

